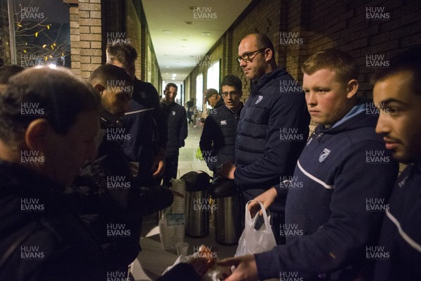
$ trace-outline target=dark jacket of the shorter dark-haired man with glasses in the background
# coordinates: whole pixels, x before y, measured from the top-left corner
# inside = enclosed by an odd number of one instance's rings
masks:
[[[242,103],[236,112],[222,105],[206,117],[199,146],[210,171],[216,172],[226,161],[234,162],[236,127],[242,109]]]

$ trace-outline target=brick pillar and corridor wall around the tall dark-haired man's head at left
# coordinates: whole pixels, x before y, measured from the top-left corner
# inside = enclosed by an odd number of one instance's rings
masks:
[[[150,81],[160,91],[161,76],[155,67],[156,56],[140,1],[79,0],[79,4],[70,4],[69,11],[72,71],[75,74],[87,79],[93,70],[104,64],[108,40],[115,40],[115,33],[119,33],[123,34],[120,39],[138,51],[136,76]],[[152,51],[150,55],[147,55],[148,48]]]

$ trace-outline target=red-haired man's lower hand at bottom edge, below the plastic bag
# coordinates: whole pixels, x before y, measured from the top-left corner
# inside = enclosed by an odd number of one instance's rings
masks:
[[[222,259],[216,262],[219,266],[235,266],[232,275],[225,281],[258,281],[258,266],[253,254],[236,256],[235,258]]]

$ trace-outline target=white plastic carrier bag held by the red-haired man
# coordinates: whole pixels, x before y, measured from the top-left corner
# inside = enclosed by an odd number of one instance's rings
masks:
[[[245,254],[258,254],[262,251],[272,250],[276,246],[276,240],[272,228],[269,223],[270,215],[263,211],[263,219],[265,225],[259,230],[255,230],[254,226],[258,220],[259,213],[255,214],[254,218],[251,218],[250,211],[248,211],[248,204],[255,200],[250,200],[246,204],[246,221],[244,223],[243,234],[241,234],[239,240],[239,247],[237,247],[235,256],[243,256]],[[265,210],[262,202],[259,202],[260,208]]]

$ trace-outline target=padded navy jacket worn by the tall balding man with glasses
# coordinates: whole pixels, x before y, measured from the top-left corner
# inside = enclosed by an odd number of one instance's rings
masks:
[[[285,84],[296,83],[282,68],[264,74],[241,110],[234,181],[244,189],[267,189],[279,183],[279,176],[292,175],[307,141],[305,94],[298,86],[283,91]]]

